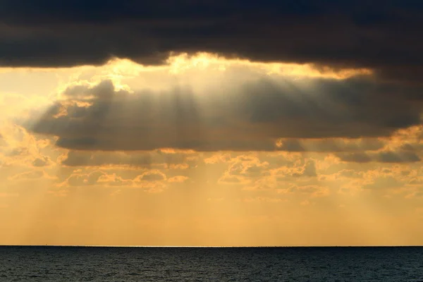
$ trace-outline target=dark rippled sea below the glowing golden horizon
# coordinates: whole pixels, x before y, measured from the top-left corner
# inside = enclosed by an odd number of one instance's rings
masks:
[[[423,247],[1,246],[0,281],[423,281]]]

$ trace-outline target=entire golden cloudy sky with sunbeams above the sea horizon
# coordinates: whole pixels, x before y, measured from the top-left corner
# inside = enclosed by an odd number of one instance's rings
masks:
[[[0,6],[0,245],[423,245],[421,1]]]

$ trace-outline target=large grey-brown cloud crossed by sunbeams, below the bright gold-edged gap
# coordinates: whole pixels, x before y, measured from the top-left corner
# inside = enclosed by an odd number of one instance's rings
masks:
[[[200,95],[189,88],[115,92],[105,80],[92,88],[68,88],[65,104],[57,102],[39,121],[25,126],[58,136],[59,147],[79,150],[357,152],[384,144],[377,140],[295,144],[295,139],[388,136],[420,123],[419,104],[384,95],[384,87],[367,78],[307,81],[308,87],[284,79],[257,79]],[[77,101],[90,106],[78,106]],[[63,107],[66,114],[60,114]],[[278,138],[292,140],[276,147]]]

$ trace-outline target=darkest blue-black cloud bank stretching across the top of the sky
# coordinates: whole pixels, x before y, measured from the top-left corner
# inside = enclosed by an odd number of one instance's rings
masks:
[[[375,68],[418,81],[423,4],[405,0],[0,0],[3,66],[161,63],[169,51]]]

